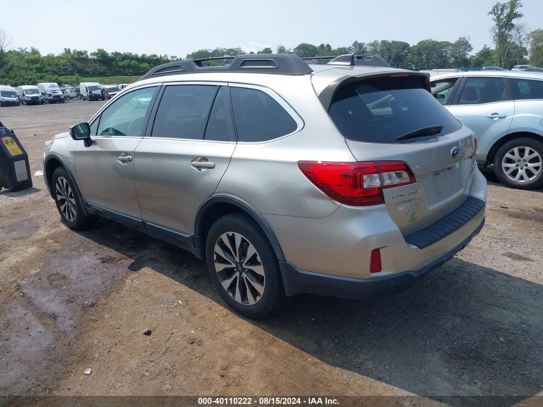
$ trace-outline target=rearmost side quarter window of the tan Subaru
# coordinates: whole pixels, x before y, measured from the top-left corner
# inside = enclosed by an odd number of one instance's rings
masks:
[[[231,87],[232,111],[239,141],[262,142],[293,133],[298,124],[267,93]]]

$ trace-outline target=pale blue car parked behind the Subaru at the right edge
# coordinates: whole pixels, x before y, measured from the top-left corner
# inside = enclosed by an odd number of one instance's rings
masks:
[[[477,134],[477,162],[514,188],[543,185],[543,76],[463,72],[432,78],[432,94]]]

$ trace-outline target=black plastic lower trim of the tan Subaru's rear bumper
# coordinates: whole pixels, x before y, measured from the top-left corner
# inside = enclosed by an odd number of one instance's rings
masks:
[[[376,278],[349,278],[323,273],[299,270],[288,261],[280,261],[281,275],[287,296],[298,293],[311,293],[349,299],[369,299],[392,295],[408,289],[416,280],[429,271],[443,265],[454,254],[462,250],[484,226],[484,218],[479,226],[459,245],[418,270],[386,275]]]

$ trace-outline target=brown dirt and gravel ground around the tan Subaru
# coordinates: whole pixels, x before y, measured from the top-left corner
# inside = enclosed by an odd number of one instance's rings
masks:
[[[0,109],[34,182],[0,192],[1,396],[543,404],[542,190],[487,176],[481,234],[405,293],[371,302],[300,295],[255,322],[226,308],[191,254],[115,223],[83,233],[62,225],[34,175],[42,145],[101,103]]]

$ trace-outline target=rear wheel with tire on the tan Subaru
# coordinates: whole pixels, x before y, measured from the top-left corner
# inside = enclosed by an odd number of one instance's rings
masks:
[[[215,221],[205,253],[213,284],[239,314],[263,318],[285,304],[279,262],[262,229],[248,216],[234,213]]]

